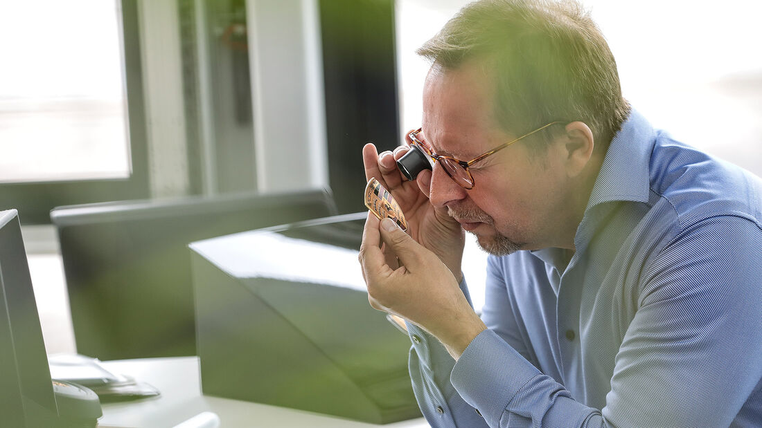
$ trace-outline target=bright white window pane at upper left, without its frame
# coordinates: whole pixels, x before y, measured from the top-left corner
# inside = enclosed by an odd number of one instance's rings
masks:
[[[116,6],[2,6],[0,181],[130,176]]]

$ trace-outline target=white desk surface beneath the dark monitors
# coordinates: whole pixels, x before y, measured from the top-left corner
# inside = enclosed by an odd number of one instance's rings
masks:
[[[171,428],[203,411],[216,413],[220,419],[220,428],[428,426],[423,418],[373,425],[285,407],[204,396],[200,392],[197,357],[120,360],[103,364],[114,373],[123,373],[141,382],[148,382],[158,388],[162,395],[140,401],[104,404],[104,416],[98,421],[98,426],[102,427]]]

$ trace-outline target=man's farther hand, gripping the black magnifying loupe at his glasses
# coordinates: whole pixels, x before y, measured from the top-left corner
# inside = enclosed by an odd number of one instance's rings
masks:
[[[393,154],[389,151],[377,154],[373,144],[366,144],[363,147],[365,178],[376,177],[392,193],[405,214],[410,236],[434,252],[460,282],[463,278],[460,263],[466,242],[465,233],[460,224],[447,214],[447,208],[434,208],[429,202],[431,171],[422,171],[415,181],[406,180],[399,172],[396,160],[407,151],[407,147],[398,147]],[[392,264],[392,256],[389,256],[389,262],[390,266],[396,267]]]

